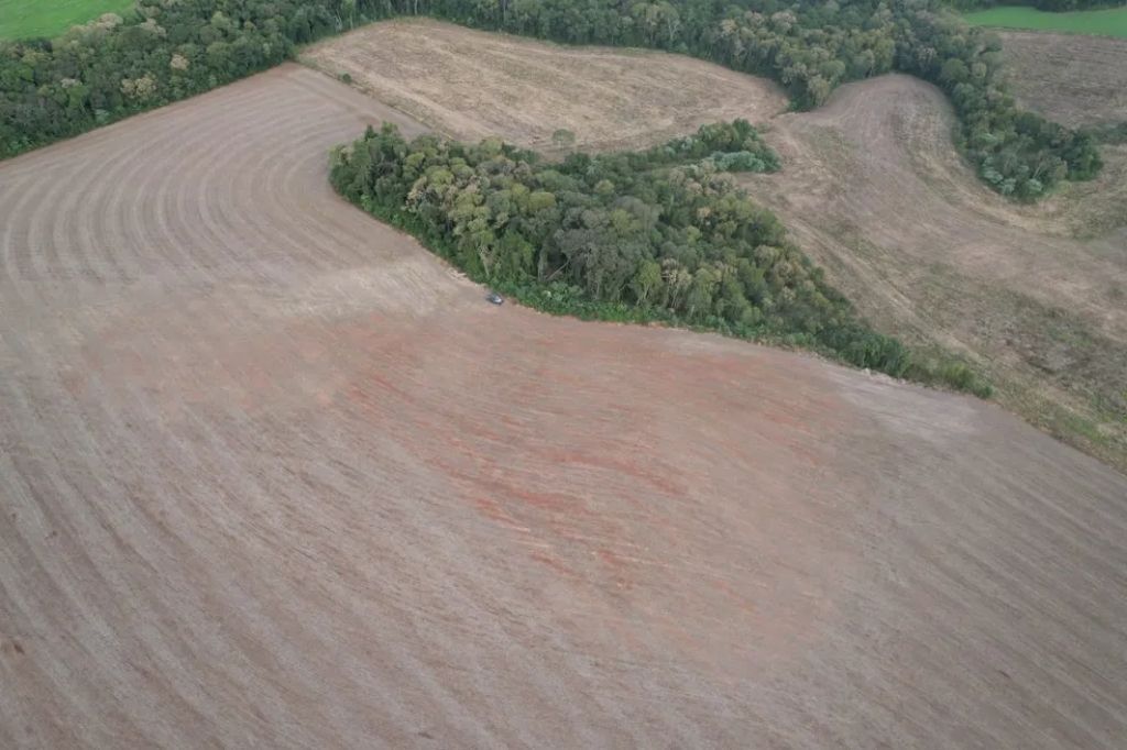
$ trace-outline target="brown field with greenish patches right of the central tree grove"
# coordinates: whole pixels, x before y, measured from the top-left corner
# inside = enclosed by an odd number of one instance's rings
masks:
[[[1127,149],[1023,207],[975,178],[952,127],[922,81],[850,84],[775,118],[783,170],[745,182],[879,328],[964,355],[1001,403],[1127,468]]]

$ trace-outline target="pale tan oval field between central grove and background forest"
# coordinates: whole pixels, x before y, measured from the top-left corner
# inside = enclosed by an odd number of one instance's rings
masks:
[[[456,139],[500,135],[549,150],[557,128],[589,149],[649,145],[704,123],[762,122],[787,107],[764,79],[691,57],[565,47],[426,19],[372,24],[301,60]]]

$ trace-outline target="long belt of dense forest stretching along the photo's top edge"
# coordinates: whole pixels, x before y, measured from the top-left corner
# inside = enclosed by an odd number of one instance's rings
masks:
[[[428,15],[565,43],[657,47],[769,75],[796,106],[898,70],[940,86],[959,144],[1004,195],[1035,199],[1100,169],[1092,139],[1019,110],[996,38],[940,0],[139,0],[57,39],[0,44],[0,157],[281,62],[357,23]]]

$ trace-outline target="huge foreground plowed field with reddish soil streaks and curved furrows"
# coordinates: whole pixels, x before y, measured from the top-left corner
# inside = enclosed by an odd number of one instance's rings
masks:
[[[494,307],[328,187],[383,118],[285,65],[0,164],[0,747],[1121,747],[1127,477]]]

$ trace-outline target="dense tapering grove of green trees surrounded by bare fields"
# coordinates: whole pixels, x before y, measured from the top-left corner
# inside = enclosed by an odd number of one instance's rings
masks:
[[[869,329],[726,173],[778,163],[743,120],[561,163],[496,139],[407,142],[384,125],[334,151],[330,179],[473,279],[549,312],[703,327],[988,393],[965,366],[913,363]]]

